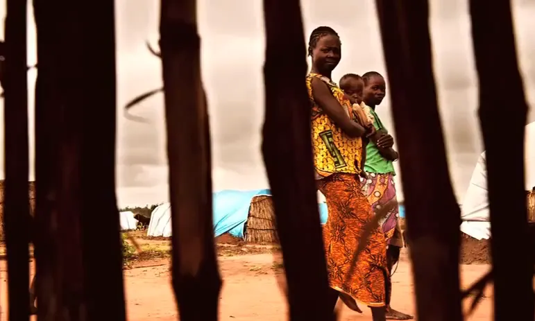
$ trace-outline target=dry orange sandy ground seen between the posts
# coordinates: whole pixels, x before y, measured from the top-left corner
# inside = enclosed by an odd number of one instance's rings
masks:
[[[168,246],[168,241],[145,241],[151,246]],[[219,320],[286,320],[287,306],[280,284],[284,284],[284,272],[281,268],[280,254],[264,248],[244,245],[218,246],[219,268],[224,279],[220,297]],[[483,275],[489,266],[464,265],[462,285],[468,286]],[[6,263],[0,263],[1,294],[0,302],[4,308],[6,302]],[[171,321],[177,320],[178,313],[173,299],[170,283],[169,260],[151,259],[136,262],[124,271],[126,288],[126,307],[130,321]],[[479,304],[473,315],[467,320],[491,319],[491,289]],[[406,313],[415,313],[414,290],[412,286],[410,263],[407,254],[393,275],[393,307]],[[368,309],[359,315],[342,304],[341,321],[371,320]],[[364,306],[362,306],[364,308]],[[7,320],[6,309],[1,318]]]

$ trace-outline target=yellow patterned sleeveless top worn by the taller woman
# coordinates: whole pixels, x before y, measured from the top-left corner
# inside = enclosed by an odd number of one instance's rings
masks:
[[[312,150],[314,153],[314,167],[319,175],[326,177],[333,173],[358,174],[361,172],[359,164],[362,159],[362,139],[352,138],[342,132],[334,122],[321,110],[312,95],[312,77],[323,80],[331,89],[334,98],[353,119],[351,103],[342,90],[332,80],[319,73],[309,73],[307,76],[308,96],[312,102],[310,119],[312,125]]]

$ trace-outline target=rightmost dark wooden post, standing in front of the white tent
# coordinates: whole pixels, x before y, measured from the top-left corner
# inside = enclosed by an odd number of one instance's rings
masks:
[[[534,257],[527,223],[524,133],[527,104],[511,3],[470,0],[479,76],[479,121],[486,150],[491,216],[495,320],[534,320]],[[514,293],[514,295],[513,295]]]

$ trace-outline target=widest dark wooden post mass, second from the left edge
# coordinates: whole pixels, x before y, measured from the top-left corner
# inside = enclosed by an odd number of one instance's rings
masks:
[[[125,320],[114,194],[114,6],[35,0],[34,8],[38,317]],[[95,213],[107,221],[99,238]]]

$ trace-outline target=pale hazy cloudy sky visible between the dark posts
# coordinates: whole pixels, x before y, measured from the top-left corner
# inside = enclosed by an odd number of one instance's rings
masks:
[[[132,111],[148,123],[124,118],[131,98],[161,86],[160,61],[144,42],[158,42],[159,2],[116,0],[119,207],[168,200],[162,96]],[[305,38],[313,28],[332,26],[342,41],[342,60],[334,80],[343,73],[386,74],[375,1],[303,0]],[[518,55],[530,107],[535,106],[535,1],[513,0]],[[135,3],[135,5],[133,4]],[[264,31],[260,0],[199,0],[203,40],[202,69],[211,116],[214,190],[260,189],[268,186],[260,155],[263,121]],[[482,146],[477,123],[477,82],[466,0],[431,0],[432,42],[436,84],[457,196],[462,197]],[[0,8],[0,17],[5,15]],[[35,62],[35,26],[28,12],[28,63]],[[3,26],[0,26],[3,34]],[[366,49],[364,49],[366,48]],[[386,75],[388,78],[388,75]],[[33,106],[35,71],[28,74]],[[3,102],[0,103],[3,105]],[[389,96],[378,109],[393,131]],[[33,107],[30,108],[33,132]],[[0,113],[3,125],[3,112]],[[535,121],[535,112],[529,115]],[[31,134],[32,135],[32,134]],[[0,131],[0,177],[3,177],[3,130]],[[425,146],[422,146],[425,148]],[[33,164],[33,139],[31,140]],[[30,178],[33,179],[33,168]],[[399,175],[398,175],[399,178]],[[399,186],[399,185],[398,185]]]

